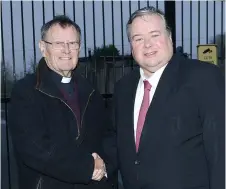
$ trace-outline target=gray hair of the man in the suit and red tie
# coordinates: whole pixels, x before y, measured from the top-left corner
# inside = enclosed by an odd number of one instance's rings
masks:
[[[151,6],[151,7],[144,7],[142,9],[138,9],[130,16],[129,21],[126,24],[126,32],[127,32],[127,37],[129,41],[130,41],[130,29],[131,29],[131,24],[133,20],[137,17],[143,17],[145,15],[157,15],[161,17],[161,19],[165,23],[166,31],[168,32],[169,35],[171,35],[171,29],[167,24],[164,13],[160,9],[156,9],[155,7]]]

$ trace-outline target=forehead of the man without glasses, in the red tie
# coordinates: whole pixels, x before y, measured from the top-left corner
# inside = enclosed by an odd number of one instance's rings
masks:
[[[131,34],[143,34],[165,30],[165,23],[158,15],[144,15],[135,18],[131,24]]]

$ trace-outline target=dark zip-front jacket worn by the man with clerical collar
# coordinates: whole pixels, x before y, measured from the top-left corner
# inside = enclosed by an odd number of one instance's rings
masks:
[[[9,129],[18,163],[20,189],[108,189],[113,166],[110,160],[109,123],[98,91],[77,73],[81,113],[78,119],[51,80],[42,59],[35,74],[18,81],[11,95]],[[79,137],[77,137],[79,136]],[[104,143],[104,144],[103,144]],[[105,161],[108,178],[92,181],[92,153]]]

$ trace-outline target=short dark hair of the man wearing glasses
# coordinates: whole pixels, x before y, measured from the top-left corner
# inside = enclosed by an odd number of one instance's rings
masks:
[[[41,28],[41,39],[42,40],[45,40],[46,34],[49,31],[49,29],[56,24],[59,24],[62,28],[66,28],[66,27],[70,27],[70,26],[74,27],[79,34],[79,42],[80,42],[80,39],[81,39],[80,27],[74,21],[72,21],[68,16],[65,16],[65,15],[55,16],[52,20],[50,20],[49,22],[45,23],[42,26],[42,28]]]

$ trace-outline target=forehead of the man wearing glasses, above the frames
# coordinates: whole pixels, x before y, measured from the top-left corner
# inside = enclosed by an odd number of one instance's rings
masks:
[[[59,24],[55,24],[48,30],[46,37],[51,40],[78,40],[79,33],[73,26],[63,28]]]

